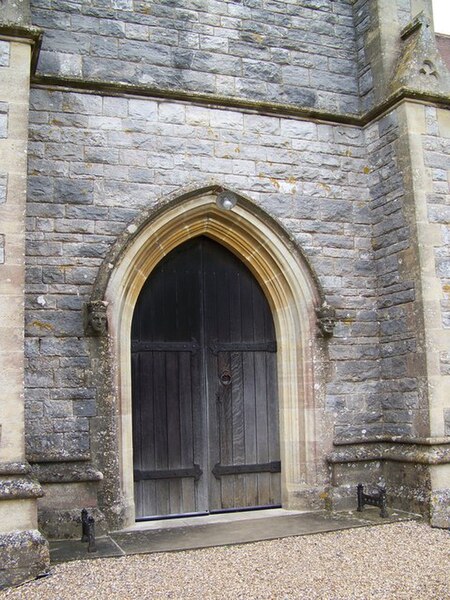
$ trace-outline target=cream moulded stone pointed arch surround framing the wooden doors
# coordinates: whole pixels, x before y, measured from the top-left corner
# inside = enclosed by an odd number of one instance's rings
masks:
[[[105,259],[94,288],[92,300],[103,298],[108,303],[123,526],[134,522],[130,361],[134,307],[160,260],[200,235],[225,246],[250,269],[272,310],[278,347],[283,507],[307,508],[318,486],[324,462],[324,452],[317,444],[320,419],[314,385],[315,366],[317,370],[321,362],[315,316],[320,290],[307,261],[284,229],[241,195],[231,211],[218,208],[216,196],[222,189],[210,186],[186,193],[130,225],[121,244]]]

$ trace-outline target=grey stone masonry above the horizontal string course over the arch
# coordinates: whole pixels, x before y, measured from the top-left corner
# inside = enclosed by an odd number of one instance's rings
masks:
[[[359,110],[350,0],[32,0],[40,74]]]

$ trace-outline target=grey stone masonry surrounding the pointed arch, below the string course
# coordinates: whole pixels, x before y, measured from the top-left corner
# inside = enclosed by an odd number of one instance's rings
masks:
[[[349,435],[380,430],[376,270],[360,129],[42,89],[32,90],[31,107],[30,459],[89,456],[98,405],[82,307],[108,249],[142,210],[211,180],[283,224],[336,307],[326,418]]]

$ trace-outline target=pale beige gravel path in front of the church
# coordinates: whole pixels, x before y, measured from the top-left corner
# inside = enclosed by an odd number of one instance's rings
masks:
[[[0,600],[450,599],[450,532],[406,522],[187,552],[76,561]]]

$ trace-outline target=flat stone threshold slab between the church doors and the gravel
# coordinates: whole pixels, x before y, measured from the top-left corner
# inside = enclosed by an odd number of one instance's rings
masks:
[[[97,538],[96,552],[88,552],[87,543],[79,540],[50,541],[50,561],[56,564],[130,554],[195,550],[417,519],[420,519],[418,515],[396,510],[389,510],[389,516],[382,518],[378,508],[368,507],[361,513],[356,510],[302,512],[280,508],[144,521]]]

